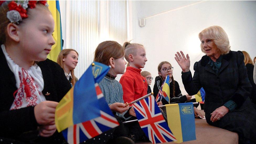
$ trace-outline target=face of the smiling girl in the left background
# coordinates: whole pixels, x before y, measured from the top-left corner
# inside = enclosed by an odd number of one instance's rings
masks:
[[[74,70],[78,63],[78,55],[75,51],[70,51],[65,57],[63,57],[62,61],[65,68]]]

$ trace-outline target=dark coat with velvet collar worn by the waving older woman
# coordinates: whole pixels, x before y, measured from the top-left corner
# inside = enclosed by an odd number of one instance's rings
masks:
[[[182,82],[189,95],[198,93],[201,87],[205,90],[205,113],[212,113],[215,109],[233,100],[237,104],[237,110],[243,110],[250,106],[248,96],[252,86],[250,85],[244,56],[241,51],[230,51],[223,55],[221,67],[216,74],[208,64],[209,57],[203,56],[194,64],[194,76],[191,72],[182,72]]]

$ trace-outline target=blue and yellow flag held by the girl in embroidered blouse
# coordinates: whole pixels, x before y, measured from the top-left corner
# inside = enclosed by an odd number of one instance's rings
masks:
[[[74,87],[61,99],[55,111],[55,125],[58,132],[100,116],[95,88],[109,69],[109,66],[102,63],[92,63]]]

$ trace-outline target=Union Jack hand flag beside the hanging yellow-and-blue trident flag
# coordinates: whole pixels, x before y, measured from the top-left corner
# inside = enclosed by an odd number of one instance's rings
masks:
[[[152,143],[177,141],[152,95],[133,106],[141,129]]]

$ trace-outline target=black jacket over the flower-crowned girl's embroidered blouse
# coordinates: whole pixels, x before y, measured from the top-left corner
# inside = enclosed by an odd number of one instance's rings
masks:
[[[71,88],[65,77],[63,69],[49,59],[38,62],[41,68],[46,100],[59,102]],[[34,115],[34,107],[10,110],[14,101],[13,93],[17,90],[16,80],[10,70],[6,58],[0,48],[0,137],[13,138],[26,131],[36,130],[37,122]],[[46,93],[50,95],[45,95]]]

